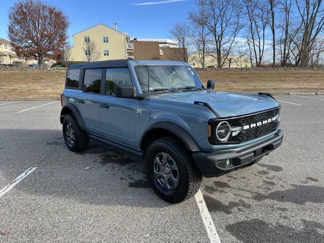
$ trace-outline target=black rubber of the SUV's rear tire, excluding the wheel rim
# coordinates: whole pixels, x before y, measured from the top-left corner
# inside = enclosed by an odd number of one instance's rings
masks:
[[[74,130],[74,146],[70,147],[66,144],[69,150],[73,152],[80,152],[85,151],[89,144],[89,138],[87,136],[87,133],[80,129],[79,125],[76,122],[76,119],[74,118],[73,114],[66,114],[63,118],[63,137],[65,141],[65,131],[64,131],[64,124],[68,121],[71,122]]]

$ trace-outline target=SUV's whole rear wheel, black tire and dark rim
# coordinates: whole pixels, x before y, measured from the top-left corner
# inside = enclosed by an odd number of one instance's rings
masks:
[[[89,144],[85,131],[78,126],[73,114],[66,114],[63,119],[63,137],[66,146],[73,152],[84,151]]]

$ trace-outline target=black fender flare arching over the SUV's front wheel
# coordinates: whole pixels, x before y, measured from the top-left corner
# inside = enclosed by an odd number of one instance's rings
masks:
[[[175,134],[183,142],[183,144],[186,146],[186,148],[189,151],[191,151],[191,152],[201,151],[201,149],[199,148],[197,143],[193,140],[193,138],[184,129],[182,129],[180,126],[170,123],[168,121],[158,121],[157,123],[154,123],[151,126],[149,126],[145,130],[144,134],[142,135],[140,144],[142,144],[142,141],[143,141],[143,138],[145,137],[145,135],[152,129],[156,129],[156,128],[165,129],[165,130],[168,130],[169,132]]]

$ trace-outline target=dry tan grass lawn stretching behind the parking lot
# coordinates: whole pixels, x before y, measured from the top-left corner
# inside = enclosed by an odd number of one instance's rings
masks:
[[[198,73],[215,90],[266,93],[324,92],[324,71],[244,71]],[[0,72],[0,100],[59,99],[65,72]]]

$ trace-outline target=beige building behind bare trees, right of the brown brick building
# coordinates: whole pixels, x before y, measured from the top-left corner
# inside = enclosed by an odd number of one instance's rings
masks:
[[[190,54],[188,57],[188,63],[192,67],[201,68],[199,53],[194,52]],[[217,67],[217,59],[210,54],[206,54],[205,67],[209,67],[209,66]],[[251,67],[251,62],[249,57],[246,55],[243,56],[232,55],[227,57],[223,67],[237,67],[237,68]]]

